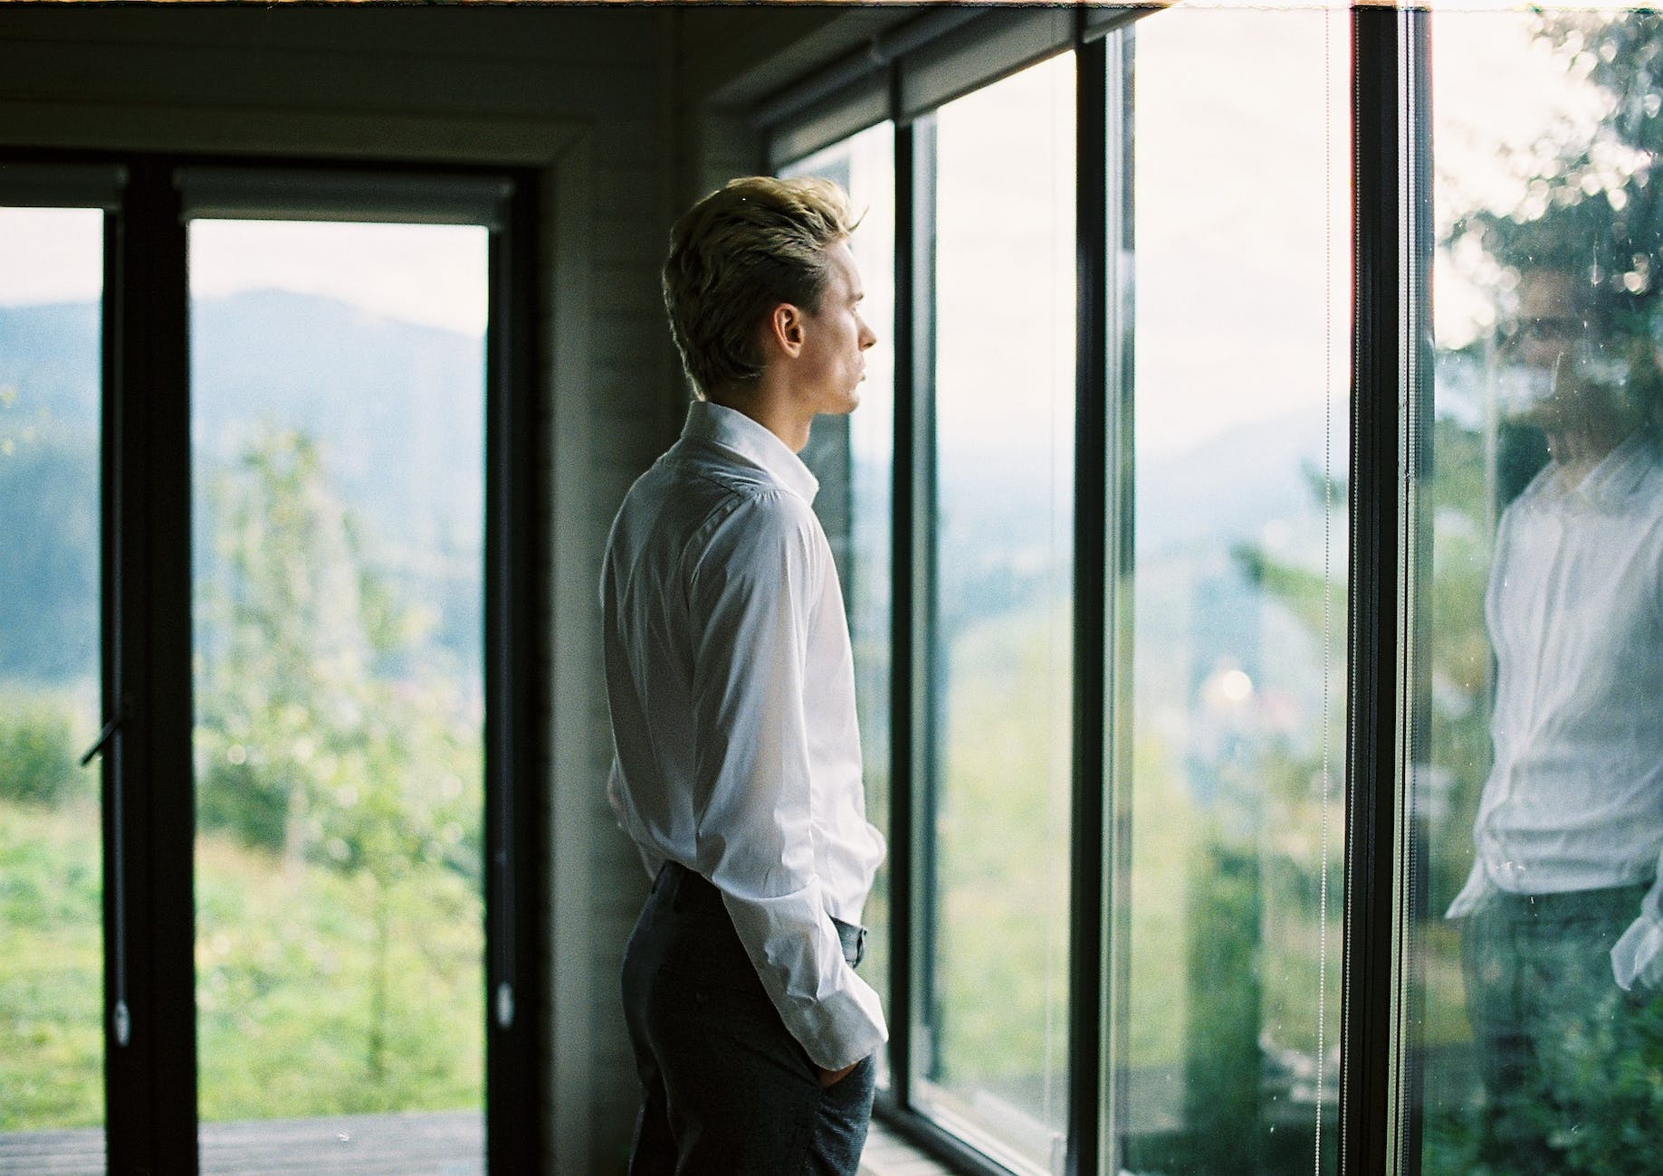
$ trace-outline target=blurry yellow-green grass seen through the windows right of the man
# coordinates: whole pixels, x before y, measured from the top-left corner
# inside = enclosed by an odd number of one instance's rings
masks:
[[[941,1073],[983,1083],[1033,1076],[1066,1065],[1068,967],[1068,658],[1049,659],[1048,620],[1026,613],[983,621],[958,635],[950,666],[945,782],[938,811],[941,887]],[[1182,784],[1179,749],[1144,733],[1133,757],[1131,992],[1126,1063],[1176,1068],[1192,1048],[1186,958],[1196,904],[1207,899],[1204,859],[1209,809]],[[1279,771],[1269,762],[1264,772]],[[1277,1045],[1314,1053],[1317,1041],[1319,912],[1315,847],[1320,804],[1279,799],[1254,786],[1257,821],[1257,929],[1247,935],[1261,983],[1261,1027]],[[1325,1048],[1339,1040],[1340,1012],[1340,806],[1330,802],[1329,968]],[[1440,1036],[1463,1023],[1447,1005],[1443,957],[1429,947]],[[1217,977],[1229,985],[1231,977]],[[1458,983],[1458,980],[1457,980]],[[1058,1070],[1061,1073],[1061,1070]]]

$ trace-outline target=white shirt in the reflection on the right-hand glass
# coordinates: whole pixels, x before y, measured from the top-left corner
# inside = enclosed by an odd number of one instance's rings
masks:
[[[1492,890],[1658,879],[1663,854],[1663,463],[1636,434],[1577,487],[1550,463],[1502,515],[1485,621],[1495,762],[1450,917]],[[1663,980],[1663,882],[1611,952]]]

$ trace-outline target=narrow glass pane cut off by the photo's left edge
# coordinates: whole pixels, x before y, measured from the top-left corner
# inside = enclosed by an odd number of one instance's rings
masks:
[[[101,1169],[103,213],[0,208],[0,1169]]]

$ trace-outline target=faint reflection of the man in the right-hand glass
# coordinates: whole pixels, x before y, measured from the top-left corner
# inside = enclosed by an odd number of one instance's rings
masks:
[[[1663,1028],[1663,463],[1650,332],[1615,326],[1623,297],[1527,271],[1505,344],[1508,414],[1552,460],[1497,533],[1495,761],[1448,912],[1483,1158],[1503,1169],[1575,1168],[1575,1133],[1616,1121],[1663,1156],[1663,1110],[1633,1080]]]

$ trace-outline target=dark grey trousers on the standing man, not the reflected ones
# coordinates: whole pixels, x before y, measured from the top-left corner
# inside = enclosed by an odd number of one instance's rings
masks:
[[[858,937],[845,958],[858,963]],[[855,1176],[875,1061],[822,1088],[745,955],[720,892],[665,865],[624,952],[644,1098],[632,1176]]]

